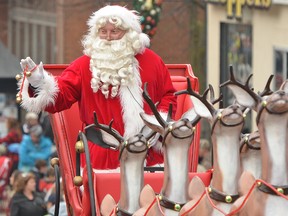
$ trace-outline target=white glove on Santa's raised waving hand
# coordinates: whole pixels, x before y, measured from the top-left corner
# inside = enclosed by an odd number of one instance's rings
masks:
[[[41,86],[44,79],[43,63],[40,62],[40,64],[36,66],[35,62],[30,57],[27,57],[21,60],[20,65],[23,71],[31,71],[31,76],[26,76],[28,82],[34,88]]]

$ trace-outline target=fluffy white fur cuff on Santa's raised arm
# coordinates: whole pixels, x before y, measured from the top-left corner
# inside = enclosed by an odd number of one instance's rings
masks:
[[[18,86],[22,85],[23,79],[19,80]],[[27,79],[24,80],[22,89],[22,102],[21,107],[29,112],[39,113],[50,104],[55,104],[55,98],[59,92],[58,84],[55,78],[48,75],[44,71],[44,79],[42,84],[35,90],[35,97],[30,97],[28,93],[29,82]]]

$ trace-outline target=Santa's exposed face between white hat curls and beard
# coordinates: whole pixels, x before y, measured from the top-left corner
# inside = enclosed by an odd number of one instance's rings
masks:
[[[117,28],[110,22],[98,30],[99,38],[108,41],[119,40],[125,35],[125,33],[125,30]]]

